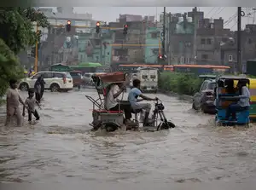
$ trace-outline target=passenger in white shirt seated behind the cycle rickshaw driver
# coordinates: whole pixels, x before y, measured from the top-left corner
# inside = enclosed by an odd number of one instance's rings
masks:
[[[119,111],[123,110],[125,112],[125,124],[131,125],[131,104],[129,101],[118,101],[118,96],[121,95],[126,87],[125,85],[122,85],[122,83],[114,83],[110,87],[106,101],[105,101],[105,107],[109,111]],[[119,88],[121,86],[121,88]]]

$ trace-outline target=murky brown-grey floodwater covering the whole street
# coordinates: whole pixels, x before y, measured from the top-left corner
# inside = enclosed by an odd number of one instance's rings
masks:
[[[20,93],[25,99],[26,93]],[[38,124],[4,129],[0,109],[0,181],[154,183],[242,182],[256,177],[254,127],[214,127],[191,104],[157,95],[177,128],[158,132],[90,132],[84,95],[46,92]]]

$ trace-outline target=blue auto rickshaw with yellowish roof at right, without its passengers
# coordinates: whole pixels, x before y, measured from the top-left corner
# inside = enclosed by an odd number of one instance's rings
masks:
[[[219,87],[219,82],[231,82],[233,83],[233,88],[234,88],[234,93],[229,93],[224,90],[218,90]],[[216,83],[217,83],[217,90],[216,92],[218,93],[216,95],[216,116],[215,116],[215,122],[217,125],[248,125],[250,123],[250,118],[249,118],[249,107],[236,112],[236,119],[233,120],[231,117],[227,120],[226,119],[226,112],[227,108],[230,106],[231,103],[234,103],[236,101],[240,100],[239,92],[235,88],[234,84],[239,83],[239,82],[246,82],[247,87],[249,88],[250,80],[246,76],[232,76],[232,75],[223,75],[223,76],[218,76],[216,78]]]

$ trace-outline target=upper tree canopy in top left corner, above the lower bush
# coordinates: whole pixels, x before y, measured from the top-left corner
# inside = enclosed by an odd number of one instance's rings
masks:
[[[33,8],[0,8],[0,38],[17,55],[28,45],[33,45],[41,37],[41,32],[35,32],[34,27],[48,27],[46,16]]]

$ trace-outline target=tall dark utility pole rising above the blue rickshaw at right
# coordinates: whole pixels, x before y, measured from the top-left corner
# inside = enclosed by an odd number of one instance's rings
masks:
[[[237,71],[242,73],[241,68],[241,7],[237,8]]]

